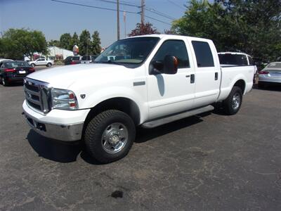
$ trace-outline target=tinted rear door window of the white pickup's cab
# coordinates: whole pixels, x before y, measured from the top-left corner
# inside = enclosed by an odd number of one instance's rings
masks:
[[[195,51],[198,68],[214,67],[214,57],[209,43],[206,41],[191,41]]]

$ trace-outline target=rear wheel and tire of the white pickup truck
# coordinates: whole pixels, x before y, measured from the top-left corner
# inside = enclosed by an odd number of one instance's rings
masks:
[[[233,87],[228,98],[223,101],[223,108],[226,115],[235,115],[240,110],[242,98],[243,94],[240,87]]]

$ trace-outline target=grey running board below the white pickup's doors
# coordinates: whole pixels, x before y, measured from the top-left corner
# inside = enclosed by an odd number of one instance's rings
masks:
[[[169,116],[169,117],[164,117],[162,119],[153,120],[151,122],[145,122],[141,126],[145,127],[145,128],[158,127],[158,126],[160,126],[162,124],[167,124],[169,122],[174,122],[176,120],[181,120],[183,118],[194,116],[194,115],[197,115],[199,113],[205,113],[205,112],[208,112],[210,110],[214,110],[214,106],[206,106],[206,107],[203,107],[203,108],[197,108],[195,110],[189,110],[189,111],[187,111],[185,113],[180,113],[180,114],[177,114],[177,115],[172,115],[172,116]]]

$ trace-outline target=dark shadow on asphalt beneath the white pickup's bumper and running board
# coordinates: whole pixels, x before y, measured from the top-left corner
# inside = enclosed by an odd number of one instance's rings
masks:
[[[164,124],[153,129],[144,129],[138,127],[135,142],[143,143],[150,141],[158,136],[163,136],[165,134],[175,132],[178,129],[189,127],[192,124],[200,123],[203,121],[201,117],[210,114],[211,113],[203,113],[193,117],[187,117],[183,120]],[[91,158],[91,156],[86,152],[84,144],[81,143],[81,141],[64,142],[48,139],[37,134],[32,129],[30,129],[30,132],[27,134],[27,140],[34,151],[36,151],[42,158],[53,160],[55,162],[74,162],[77,160],[77,156],[80,154],[81,158],[89,164],[100,165],[100,162],[94,158]]]

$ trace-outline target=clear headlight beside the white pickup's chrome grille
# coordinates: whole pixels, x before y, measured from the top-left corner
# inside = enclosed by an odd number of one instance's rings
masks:
[[[78,108],[77,98],[73,91],[67,89],[51,89],[52,108],[76,110]]]

